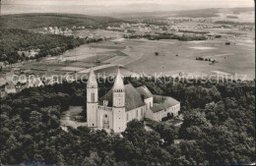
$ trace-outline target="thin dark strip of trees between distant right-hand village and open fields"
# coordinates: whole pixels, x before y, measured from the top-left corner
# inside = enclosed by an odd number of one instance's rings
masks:
[[[132,34],[132,35],[126,35],[124,34],[124,38],[148,38],[151,40],[160,40],[160,39],[178,39],[181,41],[193,41],[193,40],[206,40],[207,37],[204,35],[176,35],[173,33],[160,33],[157,35],[152,35],[152,34],[144,34],[144,35],[139,35],[139,34]]]

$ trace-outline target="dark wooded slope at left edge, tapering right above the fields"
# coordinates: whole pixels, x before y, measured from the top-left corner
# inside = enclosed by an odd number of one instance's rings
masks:
[[[39,34],[17,28],[0,29],[0,62],[14,64],[19,61],[38,59],[47,55],[56,56],[86,42],[96,42],[98,40]],[[18,53],[18,51],[30,52],[32,50],[39,50],[34,57],[26,56],[25,53]]]

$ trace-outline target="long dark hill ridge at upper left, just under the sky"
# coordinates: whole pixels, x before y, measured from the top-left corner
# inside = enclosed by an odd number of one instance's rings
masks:
[[[109,17],[96,17],[77,14],[15,14],[0,17],[0,28],[42,28],[84,26],[85,28],[104,28],[121,21]]]

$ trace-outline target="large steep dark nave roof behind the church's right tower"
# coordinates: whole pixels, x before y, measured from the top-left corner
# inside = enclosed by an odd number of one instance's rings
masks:
[[[125,84],[125,111],[130,111],[132,109],[141,107],[145,105],[141,93],[131,84]],[[99,99],[99,104],[103,103],[103,100],[108,100],[109,107],[113,105],[113,90],[112,88]]]

